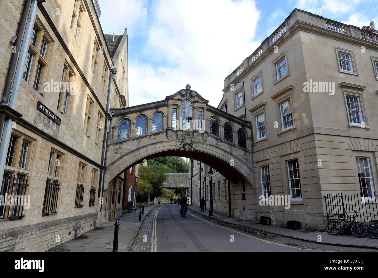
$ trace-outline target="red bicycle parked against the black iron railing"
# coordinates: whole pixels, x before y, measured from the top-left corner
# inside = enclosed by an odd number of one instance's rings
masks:
[[[347,219],[345,218],[345,213],[337,214],[337,216],[339,217],[339,219],[333,220],[327,225],[327,233],[329,233],[330,235],[337,235],[340,232],[344,232],[346,230],[346,228],[348,228],[353,223],[355,223],[355,224],[352,225],[350,230],[352,231],[352,234],[354,236],[356,236],[358,238],[362,238],[363,236],[366,235],[366,230],[367,230],[366,225],[362,224],[362,223],[358,223],[357,211],[353,210],[353,217],[349,217]],[[344,228],[344,225],[342,225],[342,223],[347,222],[347,221],[350,221],[350,222]]]

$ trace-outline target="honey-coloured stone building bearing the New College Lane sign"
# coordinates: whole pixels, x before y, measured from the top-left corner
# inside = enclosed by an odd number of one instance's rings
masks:
[[[0,206],[2,251],[47,250],[133,200],[135,167],[103,184],[110,109],[129,102],[127,30],[103,34],[100,15],[96,0],[0,3],[1,195],[30,197]]]

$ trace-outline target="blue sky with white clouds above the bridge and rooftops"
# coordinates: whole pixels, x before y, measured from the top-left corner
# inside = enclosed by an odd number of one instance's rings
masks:
[[[130,106],[191,84],[209,104],[224,79],[294,8],[362,27],[378,26],[373,0],[98,0],[105,34],[129,34]]]

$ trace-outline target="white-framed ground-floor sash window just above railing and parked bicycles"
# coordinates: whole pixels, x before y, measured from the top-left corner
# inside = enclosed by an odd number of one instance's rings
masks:
[[[372,171],[368,157],[356,157],[359,188],[362,197],[374,195]]]

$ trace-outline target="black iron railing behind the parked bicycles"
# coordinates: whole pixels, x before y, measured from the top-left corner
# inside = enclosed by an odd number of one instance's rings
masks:
[[[377,221],[378,196],[374,193],[361,195],[360,193],[335,193],[324,196],[325,209],[328,223],[338,219],[340,214],[346,217],[353,216],[353,210],[357,211],[358,220],[361,222]]]

